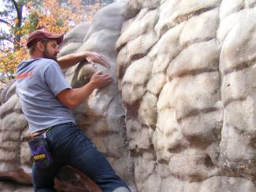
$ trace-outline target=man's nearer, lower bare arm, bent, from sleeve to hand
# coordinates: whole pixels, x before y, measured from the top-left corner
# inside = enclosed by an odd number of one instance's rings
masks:
[[[69,109],[80,105],[85,99],[87,99],[93,90],[106,87],[112,82],[112,76],[110,74],[102,74],[96,72],[89,83],[83,87],[76,89],[65,89],[57,94],[58,99],[68,107]]]

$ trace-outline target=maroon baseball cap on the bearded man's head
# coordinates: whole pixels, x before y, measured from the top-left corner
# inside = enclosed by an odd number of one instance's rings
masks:
[[[56,39],[57,45],[61,44],[63,41],[64,34],[53,34],[49,31],[46,31],[44,29],[39,29],[36,31],[33,31],[29,36],[27,40],[27,46],[28,48],[32,45],[34,45],[36,42],[39,42],[42,39]]]

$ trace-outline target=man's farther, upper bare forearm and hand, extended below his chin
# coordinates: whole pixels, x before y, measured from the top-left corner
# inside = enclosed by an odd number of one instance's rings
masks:
[[[77,63],[81,61],[87,60],[89,63],[98,63],[101,64],[107,68],[109,68],[109,63],[106,61],[106,58],[103,57],[101,54],[91,52],[91,51],[83,51],[80,53],[75,54],[67,54],[63,57],[58,58],[58,64],[60,67],[63,68],[69,68],[72,65],[76,65]]]

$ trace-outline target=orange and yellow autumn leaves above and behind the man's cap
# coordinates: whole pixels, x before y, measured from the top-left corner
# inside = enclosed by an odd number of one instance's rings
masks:
[[[17,72],[17,64],[28,57],[26,39],[32,31],[45,28],[54,33],[66,33],[76,24],[90,21],[93,15],[100,9],[100,1],[94,4],[82,6],[83,0],[43,0],[41,5],[35,2],[28,2],[26,17],[21,28],[11,27],[14,36],[20,36],[19,42],[14,42],[15,49],[3,49],[0,52],[0,83],[6,83],[13,79]],[[14,24],[17,24],[17,18]]]

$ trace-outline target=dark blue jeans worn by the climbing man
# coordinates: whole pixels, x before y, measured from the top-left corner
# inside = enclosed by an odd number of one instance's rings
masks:
[[[79,169],[90,177],[105,192],[110,192],[126,183],[118,177],[95,145],[75,124],[54,126],[47,134],[54,163],[49,168],[39,169],[32,165],[32,180],[35,191],[54,190],[54,177],[63,165]]]

